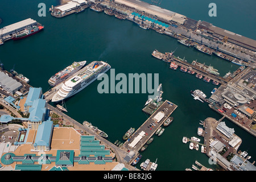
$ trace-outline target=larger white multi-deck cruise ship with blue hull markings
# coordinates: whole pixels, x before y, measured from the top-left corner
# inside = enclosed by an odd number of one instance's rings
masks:
[[[96,80],[100,73],[105,73],[110,68],[110,65],[104,61],[93,61],[86,66],[85,71],[65,81],[52,97],[52,102],[59,102],[75,95]]]

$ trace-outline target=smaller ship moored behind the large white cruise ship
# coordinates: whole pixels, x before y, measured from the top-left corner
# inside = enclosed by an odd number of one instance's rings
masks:
[[[84,65],[86,64],[86,61],[80,61],[80,62],[73,62],[68,67],[64,68],[62,71],[57,72],[55,75],[53,75],[48,80],[48,84],[51,86],[56,86],[61,81],[63,81],[65,78],[68,78],[69,76],[72,76],[77,71],[79,71]]]

